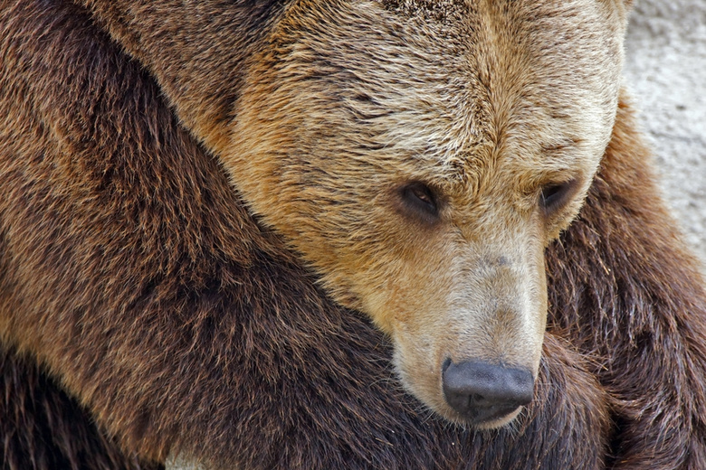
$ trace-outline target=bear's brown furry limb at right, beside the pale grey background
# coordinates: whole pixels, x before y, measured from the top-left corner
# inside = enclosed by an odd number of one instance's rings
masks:
[[[548,252],[549,330],[613,400],[616,467],[706,465],[706,301],[628,106],[580,218]]]

